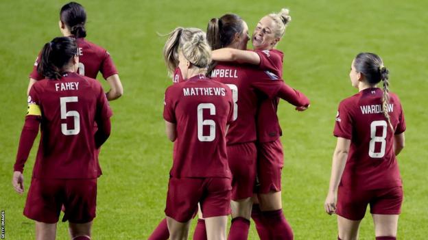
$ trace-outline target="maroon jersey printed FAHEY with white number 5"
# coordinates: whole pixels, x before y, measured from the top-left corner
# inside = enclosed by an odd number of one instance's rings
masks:
[[[95,120],[112,116],[102,85],[68,72],[59,80],[34,83],[29,105],[41,111],[40,144],[33,177],[95,178],[101,172],[95,148]]]

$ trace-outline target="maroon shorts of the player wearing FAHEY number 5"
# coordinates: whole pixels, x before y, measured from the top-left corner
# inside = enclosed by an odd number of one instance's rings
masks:
[[[97,205],[97,178],[47,179],[32,178],[24,215],[29,219],[55,224],[64,204],[63,222],[91,222]]]

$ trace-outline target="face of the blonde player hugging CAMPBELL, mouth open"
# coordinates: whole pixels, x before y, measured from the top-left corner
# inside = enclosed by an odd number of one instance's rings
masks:
[[[254,50],[270,50],[274,48],[275,44],[280,40],[280,38],[275,38],[275,27],[276,23],[269,16],[261,18],[252,34]]]

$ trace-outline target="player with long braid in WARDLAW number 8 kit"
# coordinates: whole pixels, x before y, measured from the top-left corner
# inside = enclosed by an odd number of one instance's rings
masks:
[[[339,105],[324,209],[337,214],[338,239],[357,239],[370,204],[376,239],[394,240],[403,202],[396,159],[404,148],[403,108],[389,91],[389,71],[378,55],[359,53],[350,68],[350,81],[359,92]]]

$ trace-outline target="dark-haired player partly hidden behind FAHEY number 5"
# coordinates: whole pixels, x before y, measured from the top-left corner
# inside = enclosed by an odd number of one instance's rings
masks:
[[[106,93],[108,100],[111,101],[119,98],[123,94],[123,87],[110,53],[101,46],[97,46],[85,39],[86,10],[83,6],[75,2],[63,5],[60,10],[58,25],[63,36],[75,38],[78,44],[78,55],[80,58],[78,73],[96,79],[98,72],[101,72],[108,85],[110,85],[110,90]],[[27,92],[29,92],[36,81],[45,78],[45,76],[37,72],[39,62],[40,55],[34,63],[32,73],[29,75]]]

